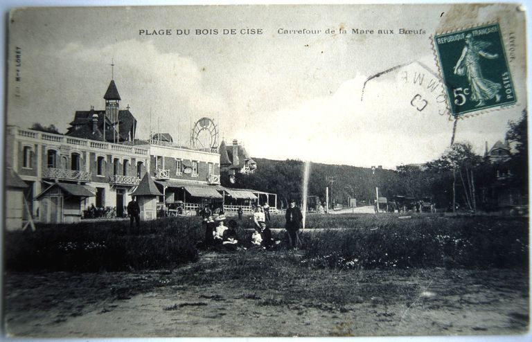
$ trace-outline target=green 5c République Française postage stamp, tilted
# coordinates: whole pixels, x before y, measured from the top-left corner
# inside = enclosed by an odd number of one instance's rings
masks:
[[[434,48],[455,118],[516,102],[499,24],[436,35]]]

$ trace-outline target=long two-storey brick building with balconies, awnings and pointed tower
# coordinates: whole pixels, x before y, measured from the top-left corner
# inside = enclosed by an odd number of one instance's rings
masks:
[[[163,194],[157,200],[161,215],[168,214],[177,204],[179,213],[189,215],[197,213],[205,204],[225,211],[236,211],[240,206],[251,211],[260,195],[264,195],[262,192],[254,195],[254,190],[229,190],[220,186],[218,147],[184,147],[173,143],[171,137],[136,138],[137,121],[129,107],[120,108],[121,96],[114,80],[104,100],[105,109],[91,107],[88,111],[76,111],[66,134],[7,127],[6,165],[28,186],[24,188],[29,207],[26,215],[31,213],[35,221],[63,222],[62,217],[68,215],[51,215],[50,204],[69,208],[72,216],[73,203],[68,194],[86,194],[87,190],[91,196],[79,199],[80,218],[125,217],[127,202],[146,172]],[[235,149],[237,155],[244,151],[240,149]],[[246,163],[249,165],[249,161],[242,160],[238,165]],[[51,192],[54,183],[59,183],[57,189],[69,191]],[[45,190],[48,190],[46,194]],[[242,201],[243,197],[247,201]],[[237,198],[241,201],[235,206]],[[45,200],[46,213],[40,210]],[[67,200],[68,206],[60,203]],[[226,200],[228,206],[224,208]],[[70,217],[69,222],[76,222],[76,218]]]

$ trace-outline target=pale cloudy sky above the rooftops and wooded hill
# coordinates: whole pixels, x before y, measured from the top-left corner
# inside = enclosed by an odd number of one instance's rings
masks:
[[[512,10],[509,5],[21,10],[12,15],[10,28],[8,124],[39,122],[66,132],[76,110],[105,108],[113,61],[121,108],[130,106],[139,138],[161,132],[188,143],[191,122],[206,116],[218,124],[220,140],[238,139],[255,157],[385,168],[424,163],[449,146],[453,126],[440,96],[430,35],[497,20],[502,29],[516,31],[518,58],[511,72],[519,102],[459,120],[455,140],[470,141],[482,154],[486,141],[491,146],[504,140],[508,120],[517,120],[526,107],[524,16]],[[462,12],[468,15],[457,16]],[[223,35],[224,28],[237,34]],[[242,28],[263,33],[242,35]],[[279,31],[302,28],[321,31]],[[347,33],[339,34],[339,28]],[[394,34],[359,35],[353,28]],[[423,33],[399,35],[399,28]],[[167,29],[172,35],[140,34]],[[176,35],[177,29],[190,34]],[[197,35],[196,29],[217,29],[218,35]],[[16,46],[21,82],[13,82]],[[412,105],[425,103],[416,102],[420,98],[427,102],[422,111]]]

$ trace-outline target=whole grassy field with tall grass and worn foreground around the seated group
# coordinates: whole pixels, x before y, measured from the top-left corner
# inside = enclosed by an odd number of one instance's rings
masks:
[[[201,247],[197,217],[6,235],[16,336],[516,334],[529,321],[528,220],[308,217],[297,251]],[[272,226],[282,227],[283,217]],[[283,231],[274,231],[283,239]],[[90,271],[90,273],[87,273]]]

